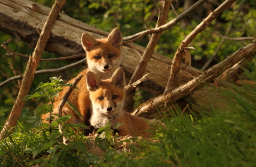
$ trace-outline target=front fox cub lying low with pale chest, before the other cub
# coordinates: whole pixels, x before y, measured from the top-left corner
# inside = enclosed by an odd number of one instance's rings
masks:
[[[125,75],[122,67],[117,68],[112,78],[108,80],[101,80],[95,73],[89,71],[86,75],[86,83],[93,107],[90,124],[94,128],[103,127],[110,121],[112,127],[117,123],[123,123],[117,128],[120,136],[152,135],[149,132],[152,120],[133,116],[123,109]]]

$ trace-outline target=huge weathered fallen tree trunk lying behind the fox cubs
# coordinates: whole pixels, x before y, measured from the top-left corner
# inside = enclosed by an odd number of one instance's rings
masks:
[[[0,31],[8,33],[22,41],[35,46],[38,40],[38,31],[42,30],[42,26],[51,8],[42,6],[26,0],[2,0],[0,2]],[[88,24],[80,22],[59,13],[59,17],[51,31],[49,42],[47,42],[46,51],[54,52],[60,56],[72,56],[84,53],[81,47],[81,34],[89,33],[96,38],[108,36],[108,32],[91,27]],[[122,46],[122,67],[125,75],[131,78],[132,73],[136,69],[141,57],[138,53],[143,53],[145,48],[135,43],[127,43]],[[168,72],[171,67],[171,58],[167,58],[158,53],[154,53],[148,62],[146,73],[150,73],[145,89],[154,95],[162,94],[165,89],[168,78]],[[185,68],[181,65],[182,70],[178,78],[178,85],[185,84],[195,76],[200,75],[200,71],[196,68]],[[163,72],[164,71],[164,72]],[[161,75],[159,73],[161,72]]]

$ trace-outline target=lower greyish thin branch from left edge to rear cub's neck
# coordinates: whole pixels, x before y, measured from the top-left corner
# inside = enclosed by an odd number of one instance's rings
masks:
[[[79,65],[83,65],[83,63],[86,61],[86,58],[84,58],[83,60],[80,60],[78,62],[75,62],[75,63],[72,63],[70,65],[67,65],[67,66],[64,66],[64,67],[60,67],[60,68],[55,68],[55,69],[47,69],[47,70],[38,70],[36,71],[35,75],[40,75],[42,73],[58,73],[58,72],[61,72],[61,71],[64,71],[64,70],[67,70],[69,68],[74,68],[76,66],[79,66]],[[14,77],[11,77],[11,78],[8,78],[7,80],[3,81],[1,84],[0,84],[0,87],[8,84],[9,82],[12,82],[12,81],[16,81],[16,80],[21,80],[22,79],[22,76],[14,76]]]

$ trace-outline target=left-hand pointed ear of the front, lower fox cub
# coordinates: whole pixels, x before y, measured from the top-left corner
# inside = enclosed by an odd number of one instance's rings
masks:
[[[89,71],[86,73],[86,84],[89,91],[96,91],[102,85],[102,80],[95,73]]]

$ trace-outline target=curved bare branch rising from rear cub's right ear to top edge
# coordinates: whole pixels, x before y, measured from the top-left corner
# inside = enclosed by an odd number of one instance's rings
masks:
[[[138,32],[138,33],[136,33],[132,36],[124,37],[123,38],[123,44],[137,41],[140,38],[142,38],[143,36],[148,35],[149,33],[160,33],[160,32],[163,32],[163,31],[175,26],[175,24],[180,22],[183,18],[189,16],[189,14],[194,12],[199,6],[201,6],[201,4],[205,3],[206,1],[207,0],[197,1],[193,6],[191,6],[189,9],[187,9],[185,12],[181,13],[175,19],[172,19],[172,21],[170,21],[170,22],[168,22],[168,23],[166,23],[166,24],[164,24],[160,27],[152,28],[151,30]]]

